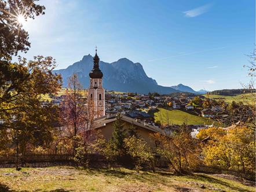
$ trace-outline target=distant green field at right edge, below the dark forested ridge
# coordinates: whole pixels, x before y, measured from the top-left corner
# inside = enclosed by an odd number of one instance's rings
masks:
[[[232,101],[240,102],[242,101],[244,104],[255,104],[255,93],[246,93],[246,94],[239,94],[234,96],[225,96],[225,95],[206,95],[204,97],[209,97],[211,99],[224,99],[228,103],[232,103]]]

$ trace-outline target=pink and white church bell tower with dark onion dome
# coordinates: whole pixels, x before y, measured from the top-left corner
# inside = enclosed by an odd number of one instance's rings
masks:
[[[96,54],[93,58],[93,69],[90,71],[90,87],[87,89],[88,105],[94,107],[94,117],[105,115],[105,90],[103,88],[103,73],[99,68],[100,58]]]

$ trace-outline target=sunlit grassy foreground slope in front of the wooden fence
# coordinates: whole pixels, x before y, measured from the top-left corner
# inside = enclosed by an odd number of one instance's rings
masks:
[[[250,184],[250,185],[246,185]],[[254,191],[252,182],[233,176],[175,176],[170,172],[120,168],[75,169],[74,167],[0,169],[0,191]]]

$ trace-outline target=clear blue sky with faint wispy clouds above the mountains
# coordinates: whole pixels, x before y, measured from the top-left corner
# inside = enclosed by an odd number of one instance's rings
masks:
[[[140,62],[158,84],[240,88],[255,45],[255,1],[42,0],[46,14],[24,24],[25,57],[53,56],[58,69],[94,54]],[[21,54],[24,56],[24,54]]]

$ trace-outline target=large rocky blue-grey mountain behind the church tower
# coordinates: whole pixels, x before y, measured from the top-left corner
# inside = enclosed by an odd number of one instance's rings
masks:
[[[99,65],[103,72],[103,86],[107,90],[133,93],[158,92],[159,94],[177,92],[174,88],[158,85],[156,80],[147,76],[140,63],[134,63],[127,58],[120,58],[112,63],[100,61]],[[54,72],[62,75],[64,87],[68,85],[68,78],[76,73],[82,86],[87,88],[89,87],[89,72],[92,69],[93,57],[89,54],[66,69],[54,70]]]

